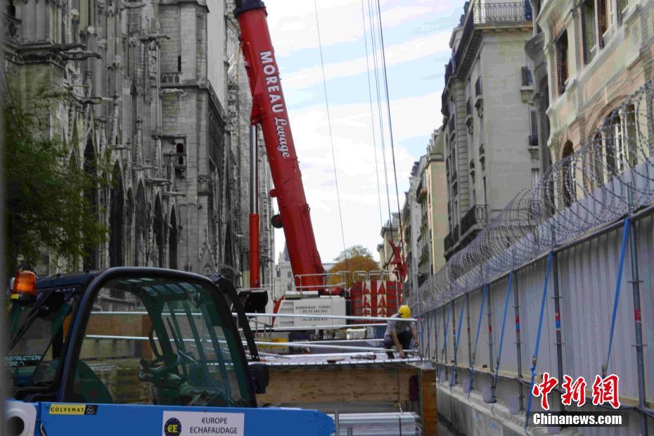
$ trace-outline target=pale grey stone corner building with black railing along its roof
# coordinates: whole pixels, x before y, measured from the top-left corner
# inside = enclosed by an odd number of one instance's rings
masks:
[[[525,1],[470,1],[452,32],[442,94],[449,203],[445,257],[473,241],[520,189],[539,178]]]

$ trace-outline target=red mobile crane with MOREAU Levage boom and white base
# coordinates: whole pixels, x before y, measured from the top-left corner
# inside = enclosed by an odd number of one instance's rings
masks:
[[[363,280],[354,283],[354,292],[351,292],[347,288],[348,280],[342,275],[333,281],[324,271],[304,195],[266,8],[260,0],[241,0],[236,5],[235,15],[241,28],[241,52],[252,93],[250,153],[252,157],[257,153],[257,132],[260,127],[274,185],[269,195],[276,198],[279,209],[271,224],[283,229],[293,270],[295,292],[281,297],[274,305],[274,312],[339,316],[386,316],[394,313],[402,299],[401,286],[406,277],[406,264],[400,248],[392,241],[392,277],[384,274],[384,271],[380,271],[378,280],[365,274]],[[252,165],[252,168],[255,169],[256,165]],[[253,179],[252,184],[255,181]],[[259,286],[259,216],[255,192],[256,189],[252,189],[250,198],[251,288]],[[338,285],[335,286],[334,282],[338,282]],[[288,298],[290,296],[295,299],[291,300]],[[298,322],[303,326],[339,323],[335,319],[276,318],[278,326],[284,323],[297,327]]]

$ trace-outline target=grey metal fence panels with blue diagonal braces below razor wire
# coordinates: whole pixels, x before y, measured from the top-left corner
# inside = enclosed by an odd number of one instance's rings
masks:
[[[622,227],[591,238],[589,241],[579,243],[571,248],[558,252],[558,282],[560,289],[561,328],[563,330],[563,372],[577,378],[584,376],[587,386],[587,401],[590,401],[590,390],[596,374],[601,373],[602,365],[606,359],[610,336],[610,324],[613,312],[613,300],[620,263],[620,246],[622,243]],[[650,215],[636,223],[636,236],[638,241],[639,275],[641,279],[641,318],[643,328],[644,364],[646,368],[646,397],[648,402],[654,399],[654,296],[652,283],[654,283],[654,217]],[[520,297],[520,344],[522,377],[529,380],[532,365],[532,356],[538,332],[538,320],[541,309],[541,297],[545,281],[547,257],[539,259],[519,269],[515,274]],[[480,338],[476,350],[475,369],[489,371],[482,366],[494,366],[499,353],[502,315],[506,297],[508,275],[489,284],[489,295],[485,300]],[[620,299],[613,336],[613,348],[608,366],[608,373],[620,376],[620,397],[623,404],[634,404],[638,399],[638,380],[636,364],[636,343],[634,333],[634,304],[631,286],[631,260],[629,245],[624,258],[624,269],[620,283]],[[500,375],[515,377],[518,371],[517,351],[515,346],[515,288],[511,290],[508,312],[506,316],[506,330],[504,332],[504,347],[501,353]],[[537,375],[540,377],[544,371],[552,375],[557,374],[556,330],[554,308],[554,278],[550,274],[547,290],[546,306],[541,330],[541,342],[537,361]],[[482,288],[469,293],[470,301],[470,342],[475,347],[477,321],[482,300]],[[443,340],[447,340],[447,354],[444,361],[447,366],[454,359],[453,318],[456,325],[462,305],[466,304],[465,296],[457,297],[453,309],[450,303],[430,312],[432,316],[430,334],[430,350],[433,361],[441,362]],[[493,361],[489,361],[489,329],[487,322],[488,304],[492,312],[492,341]],[[449,322],[447,329],[443,328],[444,317]],[[437,335],[435,322],[439,323]],[[426,324],[425,324],[426,326]],[[444,336],[445,335],[445,336]],[[426,337],[426,336],[425,336]],[[649,346],[647,346],[649,345]],[[459,387],[468,383],[468,321],[466,311],[463,312],[463,326],[461,326],[461,340],[459,342],[458,364]],[[442,374],[447,371],[447,384],[440,387],[449,387],[451,368],[442,368]],[[473,392],[477,395],[492,384],[492,374],[477,373],[474,377]],[[537,379],[538,381],[538,379]],[[525,402],[527,404],[528,388],[524,388]],[[499,402],[511,404],[518,395],[517,380],[500,380],[496,395]],[[558,397],[555,395],[554,397]],[[552,395],[551,403],[554,402]],[[533,402],[532,410],[539,409],[538,401]],[[461,406],[461,404],[459,404]],[[440,406],[439,406],[440,409]],[[459,412],[462,413],[462,412]],[[631,414],[630,434],[639,430],[640,418],[636,413]],[[601,432],[586,432],[587,434],[617,434],[614,430]]]

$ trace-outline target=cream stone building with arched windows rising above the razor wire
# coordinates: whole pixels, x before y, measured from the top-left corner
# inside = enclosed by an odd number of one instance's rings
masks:
[[[549,90],[547,145],[556,162],[577,150],[613,110],[654,77],[654,3],[546,0],[534,1],[534,6]],[[624,127],[627,120],[616,117],[614,122],[613,132],[598,139],[607,168],[619,165],[614,160],[625,154],[620,144],[627,142],[622,135],[630,134]]]

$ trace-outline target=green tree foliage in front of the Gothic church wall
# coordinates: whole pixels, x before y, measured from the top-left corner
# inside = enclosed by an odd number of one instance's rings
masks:
[[[65,143],[48,133],[50,115],[63,94],[41,86],[33,96],[21,98],[11,78],[5,79],[7,272],[13,274],[21,264],[37,264],[43,250],[67,259],[70,269],[77,269],[85,248],[97,247],[107,237],[98,210],[84,195],[107,186],[103,165],[96,161],[91,165],[94,171],[84,171],[73,151],[77,143]]]

